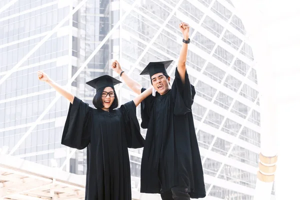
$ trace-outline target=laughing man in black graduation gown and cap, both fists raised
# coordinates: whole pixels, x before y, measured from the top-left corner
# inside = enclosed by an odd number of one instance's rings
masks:
[[[141,160],[140,191],[160,193],[162,199],[177,200],[206,195],[191,112],[195,89],[185,67],[189,26],[180,23],[179,28],[183,40],[172,85],[166,73],[172,60],[150,62],[141,72],[149,74],[156,92],[141,103],[141,127],[147,128],[147,134]],[[112,68],[135,93],[145,90],[128,77],[117,62]]]

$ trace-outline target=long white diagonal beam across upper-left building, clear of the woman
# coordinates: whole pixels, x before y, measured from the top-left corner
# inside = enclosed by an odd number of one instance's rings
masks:
[[[24,61],[26,61],[26,59],[28,59],[30,57],[30,55],[32,55],[48,38],[50,38],[52,36],[52,34],[54,34],[58,28],[60,28],[65,21],[68,20],[68,18],[70,18],[87,0],[82,0],[73,10],[72,12],[70,12],[66,17],[64,17],[44,38],[42,38],[42,40],[40,40],[16,65],[14,65],[1,79],[0,79],[0,84],[2,82],[4,82],[6,80],[6,78],[8,78],[8,76],[13,73],[14,71],[16,71],[16,69],[18,67],[20,67],[22,65],[22,63]]]

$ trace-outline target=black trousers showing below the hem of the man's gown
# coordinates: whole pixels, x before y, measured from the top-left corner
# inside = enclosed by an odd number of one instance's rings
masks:
[[[190,200],[187,189],[179,186],[160,193],[162,200]]]

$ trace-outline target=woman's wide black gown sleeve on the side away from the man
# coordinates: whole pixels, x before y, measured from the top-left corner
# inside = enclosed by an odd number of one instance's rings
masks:
[[[90,142],[92,130],[92,108],[76,96],[73,104],[70,103],[64,124],[61,144],[83,149]]]

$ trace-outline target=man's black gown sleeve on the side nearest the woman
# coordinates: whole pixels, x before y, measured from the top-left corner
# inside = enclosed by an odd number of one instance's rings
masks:
[[[146,88],[141,88],[140,92],[143,92]],[[141,124],[142,128],[148,128],[148,123],[150,119],[150,113],[153,107],[155,97],[152,95],[147,96],[143,101],[140,103],[140,116],[141,116]]]

